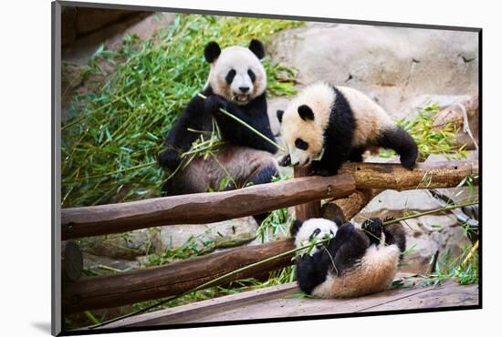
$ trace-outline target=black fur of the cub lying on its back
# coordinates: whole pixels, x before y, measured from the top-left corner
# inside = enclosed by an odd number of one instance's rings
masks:
[[[405,250],[406,238],[401,224],[383,226],[382,220],[373,218],[362,225],[362,230],[356,229],[350,222],[340,225],[340,219],[335,220],[339,230],[335,237],[329,240],[325,250],[320,250],[312,256],[304,254],[297,256],[298,286],[310,294],[320,283],[326,281],[328,272],[342,275],[350,270],[364,256],[371,244],[378,244],[376,237],[385,233],[387,244],[396,244],[402,252]],[[291,235],[294,237],[302,225],[295,220],[291,225]]]

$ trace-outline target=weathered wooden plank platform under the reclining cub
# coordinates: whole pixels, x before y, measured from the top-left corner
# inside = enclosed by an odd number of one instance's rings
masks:
[[[298,298],[296,282],[154,311],[104,328],[190,322],[223,322],[368,311],[442,308],[478,304],[478,285],[446,281],[441,286],[401,288],[353,299]]]

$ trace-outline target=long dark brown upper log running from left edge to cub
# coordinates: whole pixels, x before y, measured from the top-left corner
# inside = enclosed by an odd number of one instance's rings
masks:
[[[355,189],[348,175],[304,177],[225,192],[62,209],[63,240],[173,224],[235,219],[300,202],[340,198]]]

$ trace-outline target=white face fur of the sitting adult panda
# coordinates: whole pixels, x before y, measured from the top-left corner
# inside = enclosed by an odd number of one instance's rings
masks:
[[[235,70],[235,77],[229,86],[225,77],[230,70]],[[247,74],[251,69],[256,76],[253,83]],[[214,93],[225,97],[227,100],[234,100],[238,104],[246,104],[249,100],[263,94],[267,88],[267,75],[260,60],[249,48],[244,46],[228,46],[221,51],[221,54],[211,64],[209,77],[205,87],[211,85]],[[246,95],[240,95],[239,87],[249,87]],[[239,97],[243,100],[235,100]]]

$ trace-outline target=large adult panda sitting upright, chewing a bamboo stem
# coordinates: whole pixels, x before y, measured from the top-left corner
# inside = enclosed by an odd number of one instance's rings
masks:
[[[266,183],[278,176],[273,156],[277,148],[219,111],[223,107],[275,140],[267,115],[267,76],[260,62],[264,54],[258,40],[252,40],[248,47],[229,46],[222,50],[216,42],[204,47],[204,58],[211,66],[202,91],[207,98],[193,97],[165,138],[166,148],[159,161],[172,178],[162,188],[164,195],[219,189],[222,179],[228,176],[231,179],[225,189]],[[214,157],[195,157],[185,168],[178,169],[182,154],[193,141],[201,134],[213,132],[213,119],[225,145],[218,148]]]

